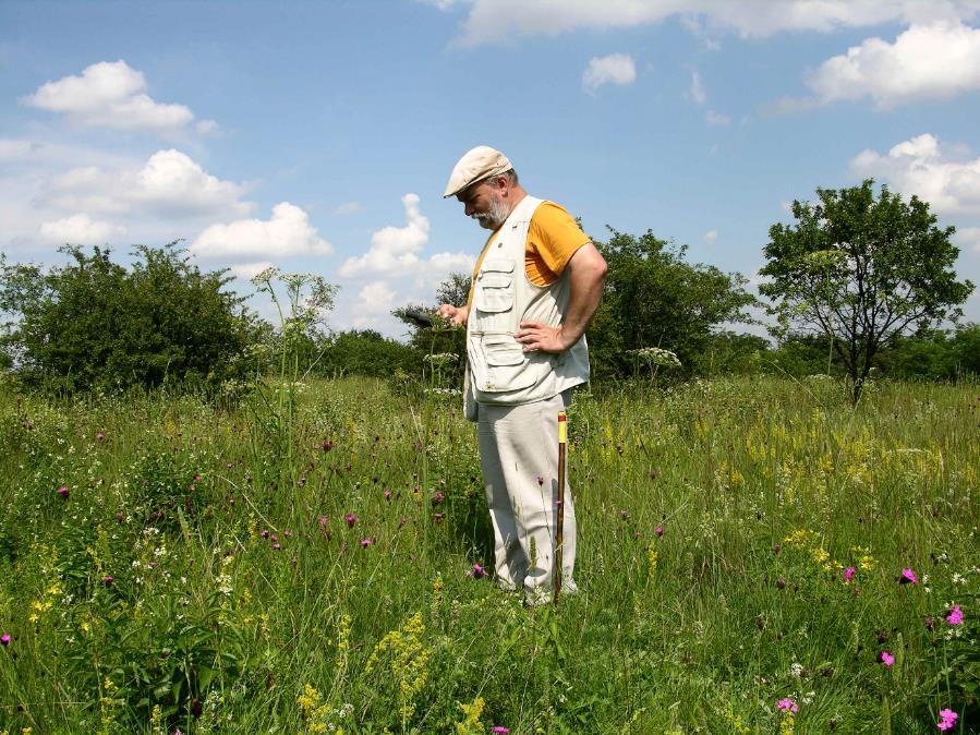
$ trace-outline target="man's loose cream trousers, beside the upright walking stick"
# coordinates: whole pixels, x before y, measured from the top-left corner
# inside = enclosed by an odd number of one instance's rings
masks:
[[[558,411],[570,390],[533,403],[480,403],[480,462],[494,527],[497,583],[523,589],[528,601],[551,600],[554,590],[555,531],[558,503]],[[565,482],[561,587],[574,592],[576,514]]]

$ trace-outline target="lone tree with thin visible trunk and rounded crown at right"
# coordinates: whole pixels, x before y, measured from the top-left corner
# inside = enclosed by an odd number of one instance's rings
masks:
[[[776,334],[790,329],[833,340],[858,401],[878,351],[897,336],[963,314],[973,285],[957,281],[955,231],[917,196],[906,203],[872,179],[818,189],[816,203],[793,203],[795,226],[773,225],[759,291],[773,301]]]

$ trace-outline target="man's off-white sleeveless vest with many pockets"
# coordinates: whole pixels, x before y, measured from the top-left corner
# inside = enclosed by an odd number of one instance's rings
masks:
[[[524,196],[493,240],[476,279],[467,320],[470,398],[517,405],[544,400],[589,379],[585,336],[561,354],[524,352],[513,337],[521,322],[561,324],[568,311],[568,270],[548,286],[528,279],[524,251],[542,200]]]

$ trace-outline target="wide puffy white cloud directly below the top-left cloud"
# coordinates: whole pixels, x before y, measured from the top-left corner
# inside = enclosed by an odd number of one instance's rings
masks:
[[[209,174],[190,156],[170,148],[153,154],[140,169],[71,169],[51,178],[47,197],[61,208],[84,212],[241,216],[251,210],[240,201],[244,192],[243,185]]]

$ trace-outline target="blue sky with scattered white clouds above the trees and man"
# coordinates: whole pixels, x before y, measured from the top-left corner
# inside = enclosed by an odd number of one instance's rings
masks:
[[[440,194],[487,144],[594,237],[749,278],[794,198],[874,177],[980,282],[978,119],[978,0],[7,0],[0,250],[182,238],[243,293],[310,270],[331,327],[400,336],[482,245]]]

